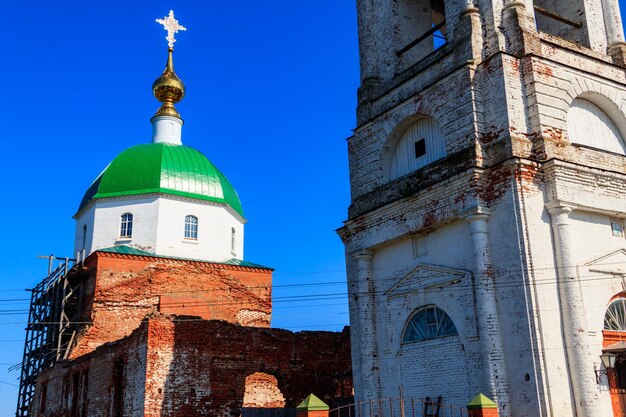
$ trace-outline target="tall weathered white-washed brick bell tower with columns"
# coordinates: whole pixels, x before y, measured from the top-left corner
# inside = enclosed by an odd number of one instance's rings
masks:
[[[357,7],[339,230],[356,399],[402,387],[459,406],[483,393],[500,416],[622,415],[600,359],[626,340],[606,321],[626,298],[618,0]]]

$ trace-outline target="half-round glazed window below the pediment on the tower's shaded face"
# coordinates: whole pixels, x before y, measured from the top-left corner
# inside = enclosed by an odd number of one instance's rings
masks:
[[[418,342],[439,337],[457,335],[456,327],[450,317],[441,309],[433,306],[424,307],[411,316],[406,327],[402,343]]]

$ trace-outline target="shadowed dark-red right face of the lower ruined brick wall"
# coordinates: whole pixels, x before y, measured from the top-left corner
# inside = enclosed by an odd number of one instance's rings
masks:
[[[147,407],[146,416],[239,415],[250,389],[246,381],[259,373],[276,379],[286,407],[310,393],[328,404],[352,396],[347,330],[293,333],[185,317],[155,318],[149,325],[168,329],[159,333],[171,331],[174,337],[166,347],[171,353],[155,359],[163,364],[167,357],[168,366],[159,366],[167,375],[148,372],[146,403],[161,396],[163,403]],[[156,354],[164,346],[152,349]]]

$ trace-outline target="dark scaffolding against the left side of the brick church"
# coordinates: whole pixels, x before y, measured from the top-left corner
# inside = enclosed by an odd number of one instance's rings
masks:
[[[48,276],[31,291],[24,357],[17,400],[17,417],[29,417],[37,376],[67,359],[81,324],[84,268],[75,259],[49,259]],[[56,268],[55,262],[58,263]]]

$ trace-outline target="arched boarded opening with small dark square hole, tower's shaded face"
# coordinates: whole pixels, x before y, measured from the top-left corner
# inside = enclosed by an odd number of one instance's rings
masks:
[[[394,180],[446,156],[437,120],[423,117],[409,126],[393,152],[389,179]]]

